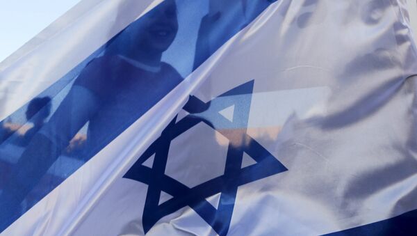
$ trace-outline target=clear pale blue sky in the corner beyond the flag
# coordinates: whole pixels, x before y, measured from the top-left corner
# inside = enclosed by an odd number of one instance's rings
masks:
[[[0,62],[80,0],[0,0]]]

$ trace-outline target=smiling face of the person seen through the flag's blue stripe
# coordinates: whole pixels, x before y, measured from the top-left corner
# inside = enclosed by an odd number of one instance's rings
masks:
[[[140,20],[136,42],[143,49],[164,52],[178,31],[177,6],[174,0],[163,1]]]

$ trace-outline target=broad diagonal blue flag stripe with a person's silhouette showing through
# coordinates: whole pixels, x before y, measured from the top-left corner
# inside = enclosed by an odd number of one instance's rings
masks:
[[[220,6],[225,11],[221,20],[211,23],[218,31],[213,38],[208,29],[199,29],[195,22],[188,22],[190,17],[201,19],[206,15],[208,1],[190,6],[182,1],[163,1],[3,120],[1,150],[6,163],[0,195],[1,228],[38,203],[154,107],[181,83],[183,76],[270,2],[245,4],[251,8],[247,15],[240,1]],[[183,9],[177,10],[177,5]],[[117,17],[123,17],[123,9],[120,14]],[[196,46],[198,62],[193,58],[196,47],[176,44],[178,40],[196,38],[214,42]],[[47,102],[40,104],[38,100]],[[56,111],[51,111],[51,107],[57,107]],[[22,123],[25,118],[26,123]]]

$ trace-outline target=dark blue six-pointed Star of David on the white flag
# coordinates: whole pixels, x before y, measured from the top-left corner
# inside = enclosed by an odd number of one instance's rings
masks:
[[[161,218],[189,206],[218,235],[226,235],[231,223],[238,187],[287,171],[281,162],[247,134],[253,86],[254,81],[247,82],[207,103],[197,97],[190,97],[183,107],[190,114],[177,123],[175,122],[177,118],[174,118],[161,136],[124,175],[124,178],[143,182],[149,186],[142,215],[145,233]],[[227,119],[219,113],[233,105],[235,106],[233,119]],[[165,175],[165,166],[171,141],[198,123],[206,123],[220,132],[229,139],[229,146],[224,174],[189,188]],[[239,140],[240,145],[236,145]],[[256,164],[242,168],[244,152],[250,155]],[[153,155],[155,156],[152,168],[144,166],[143,163]],[[183,165],[186,168],[186,164]],[[170,194],[172,198],[159,205],[161,191]],[[218,193],[220,193],[220,202],[216,209],[206,198]]]

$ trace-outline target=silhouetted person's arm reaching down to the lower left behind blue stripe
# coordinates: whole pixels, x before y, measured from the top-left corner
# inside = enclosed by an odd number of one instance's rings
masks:
[[[49,122],[35,134],[10,173],[0,197],[3,216],[19,210],[22,200],[47,173],[72,137],[97,111],[98,101],[88,88],[72,87]]]

